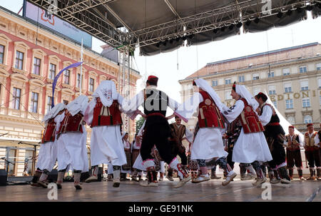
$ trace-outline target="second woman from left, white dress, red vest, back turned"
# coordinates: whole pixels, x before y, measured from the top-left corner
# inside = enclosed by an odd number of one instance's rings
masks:
[[[81,173],[88,172],[88,150],[86,122],[83,113],[88,105],[87,96],[78,96],[68,103],[63,114],[58,115],[57,123],[60,127],[57,135],[58,148],[58,179],[57,187],[61,189],[63,176],[67,168],[72,168],[74,173],[74,186],[81,190]]]

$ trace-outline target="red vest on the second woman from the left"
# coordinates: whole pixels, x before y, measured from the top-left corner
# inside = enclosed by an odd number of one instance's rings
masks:
[[[83,133],[83,115],[81,113],[77,113],[76,115],[71,115],[68,113],[63,118],[58,133],[66,133],[66,132],[80,132]]]

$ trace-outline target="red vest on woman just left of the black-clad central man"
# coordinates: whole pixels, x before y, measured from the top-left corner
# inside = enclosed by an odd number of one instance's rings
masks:
[[[113,101],[110,107],[103,106],[103,103],[97,102],[93,108],[93,122],[91,128],[102,125],[121,125],[121,110],[116,100]]]

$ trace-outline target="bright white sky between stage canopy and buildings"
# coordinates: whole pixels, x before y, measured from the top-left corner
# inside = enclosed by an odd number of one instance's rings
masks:
[[[17,13],[21,9],[22,2],[22,0],[0,0],[0,5]],[[137,90],[144,88],[147,76],[156,75],[159,78],[158,87],[170,98],[181,102],[178,81],[203,68],[206,63],[305,43],[321,43],[321,17],[312,19],[309,11],[307,15],[307,20],[290,26],[259,33],[242,33],[223,41],[213,41],[200,46],[184,46],[177,51],[156,56],[139,56],[139,48],[136,48],[133,66],[143,76],[137,82]],[[102,51],[100,46],[103,44],[103,41],[93,38],[94,51],[100,53]]]

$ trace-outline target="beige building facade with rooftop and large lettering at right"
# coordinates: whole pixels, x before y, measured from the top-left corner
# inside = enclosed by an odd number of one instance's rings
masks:
[[[234,81],[256,95],[265,92],[277,110],[300,131],[306,123],[320,128],[321,115],[321,44],[282,48],[250,56],[208,63],[199,71],[179,81],[181,100],[193,94],[192,82],[204,78],[213,86],[226,106],[235,101],[230,96]],[[193,129],[195,119],[188,127]]]

